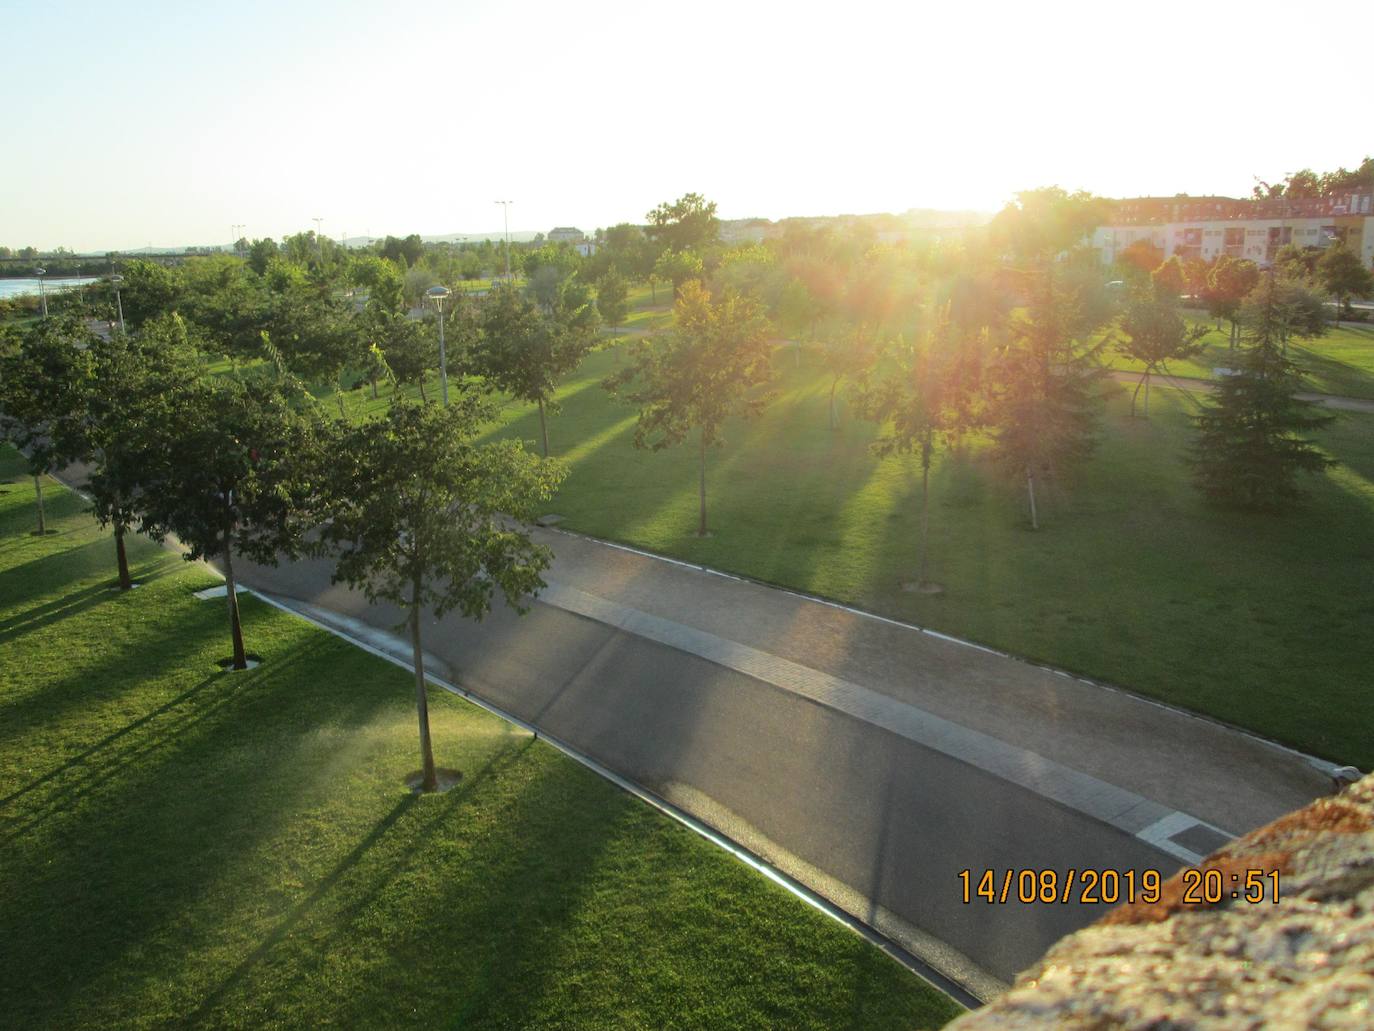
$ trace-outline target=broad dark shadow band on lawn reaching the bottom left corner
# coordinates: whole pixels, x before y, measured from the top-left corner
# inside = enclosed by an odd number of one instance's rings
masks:
[[[382,678],[338,691],[339,668],[301,675],[322,654],[337,661],[338,649],[320,635],[232,682],[209,675],[161,718],[103,744],[89,774],[81,764],[54,778],[48,786],[67,799],[56,811],[32,811],[43,792],[21,800],[21,819],[51,826],[0,850],[0,877],[19,885],[0,909],[0,940],[23,942],[32,957],[0,968],[0,1012],[15,1026],[54,1023],[74,1005],[109,1017],[120,1001],[92,997],[91,986],[159,928],[177,933],[177,914],[309,790],[294,768],[308,735],[328,722],[365,724],[394,704]]]

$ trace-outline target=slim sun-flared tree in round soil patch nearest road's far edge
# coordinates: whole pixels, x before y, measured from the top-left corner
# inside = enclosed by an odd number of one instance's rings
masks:
[[[881,428],[870,447],[875,455],[921,455],[921,548],[915,588],[938,590],[926,576],[930,537],[930,465],[936,447],[958,429],[959,407],[951,404],[951,352],[948,312],[938,326],[915,344],[900,337],[879,349],[875,362],[859,381],[855,403],[864,418]]]

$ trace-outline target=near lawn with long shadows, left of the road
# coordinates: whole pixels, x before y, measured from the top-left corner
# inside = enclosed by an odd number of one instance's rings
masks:
[[[543,742],[147,543],[143,587],[0,452],[5,1027],[929,1027],[954,1005]]]

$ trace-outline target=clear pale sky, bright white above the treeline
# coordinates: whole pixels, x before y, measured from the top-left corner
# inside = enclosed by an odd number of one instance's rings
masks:
[[[0,3],[0,243],[1245,195],[1352,166],[1369,0]],[[1363,131],[1362,131],[1363,126]]]

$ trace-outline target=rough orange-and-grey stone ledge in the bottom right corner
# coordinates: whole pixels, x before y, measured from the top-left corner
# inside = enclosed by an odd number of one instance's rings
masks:
[[[1374,1028],[1374,775],[1213,852],[1226,898],[1121,906],[1055,944],[958,1031]],[[1230,876],[1279,870],[1281,898],[1231,899]],[[1270,878],[1264,878],[1267,883]]]

